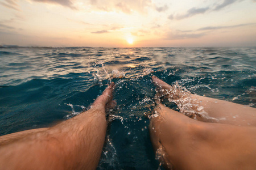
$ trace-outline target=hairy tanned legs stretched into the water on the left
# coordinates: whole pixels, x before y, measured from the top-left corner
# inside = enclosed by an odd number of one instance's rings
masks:
[[[106,88],[91,109],[52,128],[0,137],[0,169],[96,169],[113,86]]]

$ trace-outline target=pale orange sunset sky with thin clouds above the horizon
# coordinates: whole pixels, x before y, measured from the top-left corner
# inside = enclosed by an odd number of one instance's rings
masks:
[[[256,46],[256,0],[0,0],[0,45]]]

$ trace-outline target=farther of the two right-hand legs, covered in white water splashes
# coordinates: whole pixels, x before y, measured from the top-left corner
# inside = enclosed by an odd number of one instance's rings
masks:
[[[197,120],[221,124],[256,126],[256,109],[228,101],[198,96],[174,88],[152,76],[159,96],[167,95],[183,108],[184,114],[195,114]],[[192,115],[195,116],[195,115]]]

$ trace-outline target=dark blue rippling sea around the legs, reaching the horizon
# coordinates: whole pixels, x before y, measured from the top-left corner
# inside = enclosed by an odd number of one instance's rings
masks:
[[[0,48],[0,135],[84,111],[114,81],[98,169],[158,169],[149,120],[151,76],[193,94],[256,107],[256,48]]]

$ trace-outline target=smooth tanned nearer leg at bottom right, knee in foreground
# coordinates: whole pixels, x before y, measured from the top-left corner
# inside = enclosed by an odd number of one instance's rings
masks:
[[[193,120],[162,104],[150,123],[156,155],[174,169],[256,169],[256,128]]]

